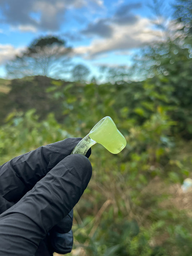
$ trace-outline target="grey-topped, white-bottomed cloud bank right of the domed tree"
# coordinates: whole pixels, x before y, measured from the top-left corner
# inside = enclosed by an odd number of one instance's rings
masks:
[[[81,33],[95,37],[89,46],[76,47],[74,52],[85,59],[93,59],[112,51],[138,48],[157,39],[162,32],[154,31],[148,18],[132,13],[140,7],[140,3],[120,5],[111,17],[88,24]]]

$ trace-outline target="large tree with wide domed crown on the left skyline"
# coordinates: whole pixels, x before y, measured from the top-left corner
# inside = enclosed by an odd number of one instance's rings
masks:
[[[66,47],[65,41],[57,37],[35,39],[25,52],[7,63],[7,75],[11,78],[58,76],[66,72],[71,52],[72,48]]]

